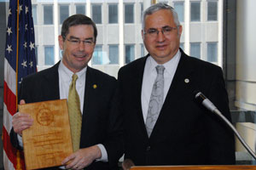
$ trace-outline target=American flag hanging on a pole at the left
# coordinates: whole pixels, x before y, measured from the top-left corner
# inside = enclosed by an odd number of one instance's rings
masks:
[[[3,94],[3,167],[25,169],[23,154],[10,143],[22,77],[37,71],[31,0],[10,0],[6,29]]]

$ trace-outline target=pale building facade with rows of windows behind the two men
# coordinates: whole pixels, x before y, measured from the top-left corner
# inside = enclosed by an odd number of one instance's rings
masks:
[[[177,9],[183,26],[181,48],[187,54],[222,66],[222,0],[163,1]],[[38,71],[61,59],[58,35],[72,14],[86,14],[96,22],[98,37],[90,65],[117,77],[119,67],[147,54],[141,35],[149,0],[32,0]]]

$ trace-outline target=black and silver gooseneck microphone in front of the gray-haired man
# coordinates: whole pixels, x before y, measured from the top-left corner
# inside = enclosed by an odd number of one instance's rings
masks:
[[[240,140],[241,144],[245,147],[249,154],[251,154],[251,156],[253,156],[253,158],[256,160],[256,155],[253,152],[253,150],[247,145],[244,139],[241,138],[241,135],[237,132],[236,128],[232,125],[232,123],[225,116],[223,116],[223,114],[220,111],[218,111],[218,108],[215,105],[212,104],[211,100],[207,99],[207,97],[199,91],[195,91],[194,94],[195,99],[198,103],[204,105],[207,108],[207,110],[212,111],[212,113],[219,116],[233,130],[233,132],[236,134],[236,137]]]

